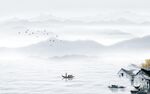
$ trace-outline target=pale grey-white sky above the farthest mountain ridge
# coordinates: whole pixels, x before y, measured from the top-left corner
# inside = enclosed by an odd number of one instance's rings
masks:
[[[34,15],[44,12],[75,16],[106,9],[150,10],[149,5],[150,0],[0,0],[0,16]]]

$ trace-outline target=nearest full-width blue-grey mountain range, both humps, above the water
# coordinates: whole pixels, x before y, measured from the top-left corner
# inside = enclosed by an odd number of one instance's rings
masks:
[[[27,47],[0,49],[1,54],[6,52],[18,52],[29,56],[56,56],[56,58],[60,58],[60,56],[65,56],[65,58],[68,58],[68,56],[78,57],[77,55],[96,56],[110,52],[138,53],[142,51],[150,52],[150,36],[126,40],[111,46],[104,46],[90,40],[65,41],[49,39]]]

